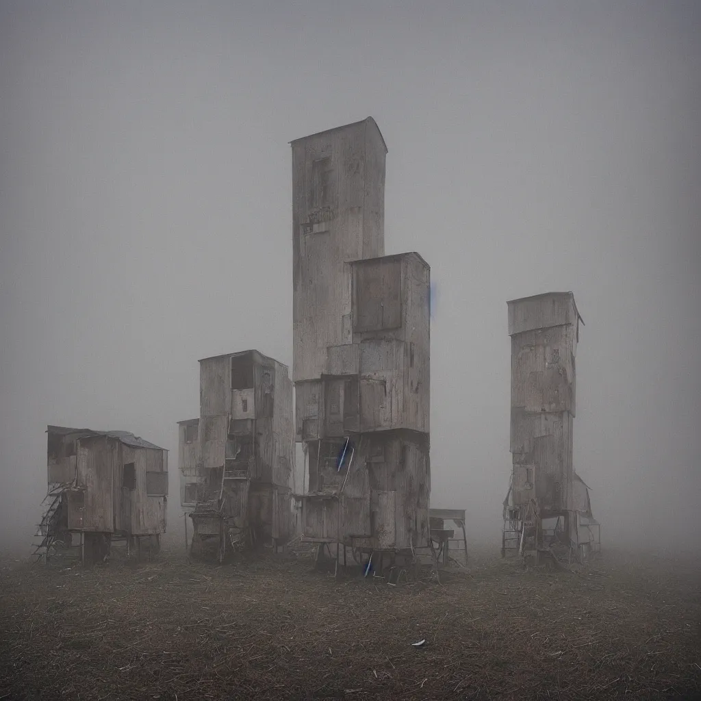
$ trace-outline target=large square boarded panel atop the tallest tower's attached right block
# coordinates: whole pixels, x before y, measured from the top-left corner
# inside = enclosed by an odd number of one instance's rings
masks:
[[[353,325],[357,332],[397,329],[402,325],[401,261],[373,261],[355,271]]]

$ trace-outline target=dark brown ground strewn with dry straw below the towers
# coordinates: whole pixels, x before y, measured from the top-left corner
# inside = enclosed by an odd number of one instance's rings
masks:
[[[491,554],[390,587],[299,556],[0,562],[0,699],[701,698],[698,563]],[[426,640],[421,647],[411,643]]]

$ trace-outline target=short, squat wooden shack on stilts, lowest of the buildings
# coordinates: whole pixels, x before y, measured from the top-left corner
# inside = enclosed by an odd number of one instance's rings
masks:
[[[79,534],[86,562],[109,553],[111,540],[157,549],[165,533],[168,451],[126,431],[48,426],[48,508],[37,554]]]

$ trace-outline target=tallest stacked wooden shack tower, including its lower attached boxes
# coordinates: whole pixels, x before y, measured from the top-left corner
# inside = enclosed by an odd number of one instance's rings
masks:
[[[429,538],[430,269],[384,255],[386,154],[372,117],[292,142],[302,535],[367,552]]]

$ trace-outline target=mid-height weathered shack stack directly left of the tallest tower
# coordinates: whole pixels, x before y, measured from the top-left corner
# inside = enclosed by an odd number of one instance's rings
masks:
[[[200,418],[181,422],[179,432],[193,552],[221,561],[229,550],[285,543],[294,459],[287,367],[258,351],[200,360]]]

